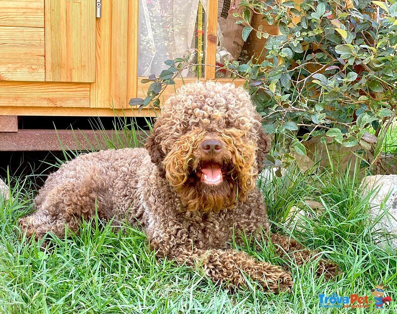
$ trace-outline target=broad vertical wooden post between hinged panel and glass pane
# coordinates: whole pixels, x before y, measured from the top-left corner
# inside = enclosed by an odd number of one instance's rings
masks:
[[[96,24],[96,81],[92,108],[130,108],[136,97],[138,1],[102,0]]]

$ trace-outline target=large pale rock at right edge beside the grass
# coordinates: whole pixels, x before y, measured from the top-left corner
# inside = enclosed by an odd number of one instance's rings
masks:
[[[376,222],[374,232],[385,234],[377,239],[380,246],[389,241],[397,249],[397,175],[368,176],[361,185],[363,196],[370,195],[371,218]]]

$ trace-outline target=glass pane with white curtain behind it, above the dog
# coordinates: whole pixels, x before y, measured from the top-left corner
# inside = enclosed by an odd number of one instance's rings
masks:
[[[204,63],[205,7],[199,0],[139,0],[138,75],[159,75],[166,60]],[[201,77],[201,66],[183,77]]]

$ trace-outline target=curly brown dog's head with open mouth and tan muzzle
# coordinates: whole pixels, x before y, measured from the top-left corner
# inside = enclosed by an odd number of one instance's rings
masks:
[[[217,211],[255,188],[270,141],[250,95],[233,84],[184,85],[146,148],[188,210]]]

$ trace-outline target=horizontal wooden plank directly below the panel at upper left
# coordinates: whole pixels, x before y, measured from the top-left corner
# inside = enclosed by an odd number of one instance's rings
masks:
[[[0,106],[89,107],[89,84],[0,82]]]

